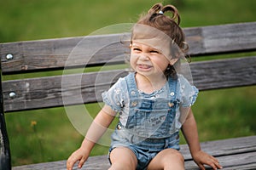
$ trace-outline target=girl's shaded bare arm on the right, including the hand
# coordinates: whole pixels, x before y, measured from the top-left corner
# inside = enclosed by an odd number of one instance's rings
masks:
[[[211,166],[213,169],[222,168],[218,164],[218,160],[216,158],[201,150],[195,117],[191,109],[189,109],[189,115],[183,123],[182,131],[187,143],[189,144],[191,156],[201,169],[205,170],[205,167],[203,166],[204,164]]]

